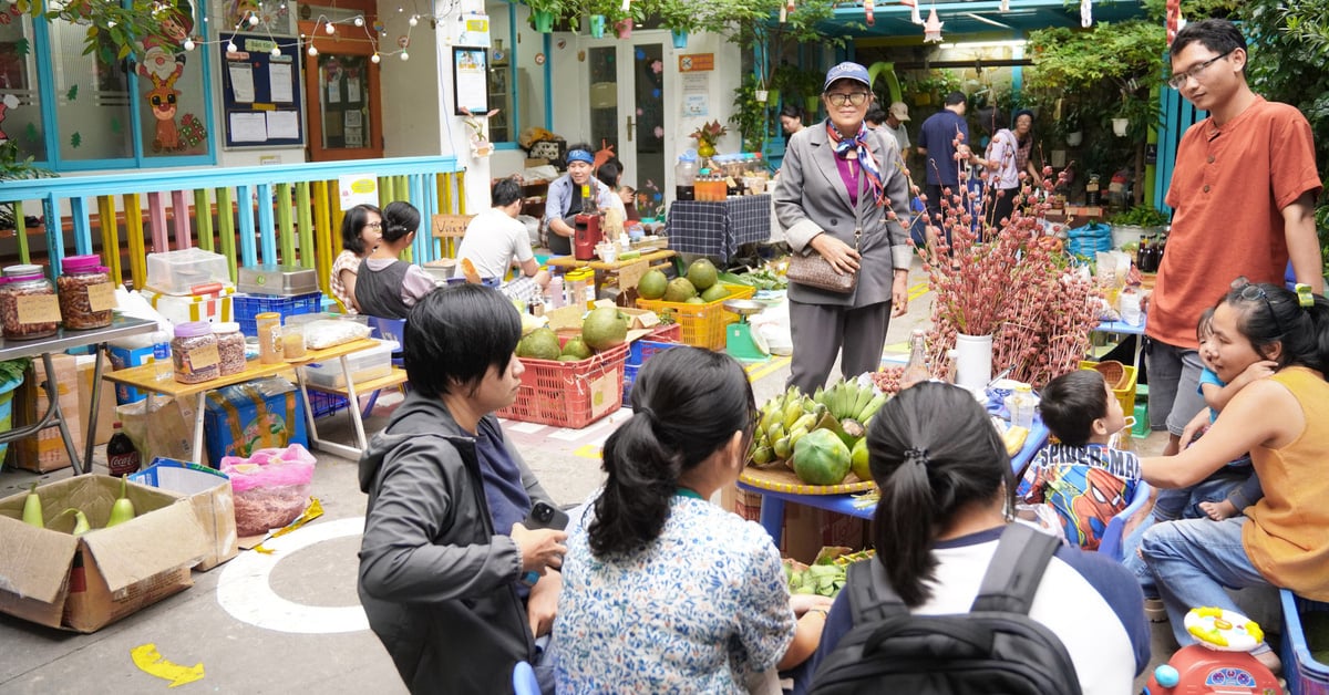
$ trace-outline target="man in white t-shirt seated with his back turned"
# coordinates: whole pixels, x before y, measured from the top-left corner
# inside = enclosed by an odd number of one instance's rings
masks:
[[[512,178],[494,183],[493,207],[480,213],[466,225],[466,234],[457,248],[457,263],[469,259],[481,278],[504,278],[509,267],[522,275],[498,290],[513,298],[530,300],[541,296],[549,284],[549,272],[540,270],[530,250],[526,226],[517,222],[521,213],[521,183]]]

